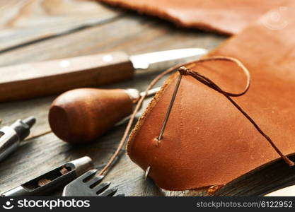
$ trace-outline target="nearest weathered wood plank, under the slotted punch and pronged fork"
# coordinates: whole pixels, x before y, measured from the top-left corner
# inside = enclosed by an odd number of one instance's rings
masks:
[[[37,139],[23,143],[21,148],[13,153],[0,166],[1,192],[11,189],[28,179],[37,177],[48,169],[57,167],[69,160],[88,155],[93,158],[95,166],[100,169],[115,151],[115,146],[122,136],[125,126],[117,126],[112,133],[88,146],[71,146],[57,139],[53,134],[47,134]],[[294,159],[293,157],[292,159]],[[128,170],[128,171],[127,171]],[[132,163],[123,153],[117,164],[112,167],[105,178],[119,187],[120,193],[127,196],[192,196],[207,195],[204,192],[167,192],[158,189],[151,180],[144,181],[144,172]],[[278,161],[260,170],[240,177],[222,188],[219,196],[253,196],[271,191],[275,187],[294,183],[294,170]]]

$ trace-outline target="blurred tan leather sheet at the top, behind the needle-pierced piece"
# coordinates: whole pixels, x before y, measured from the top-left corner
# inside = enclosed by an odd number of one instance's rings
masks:
[[[236,34],[289,0],[98,0],[173,21],[177,25]]]

